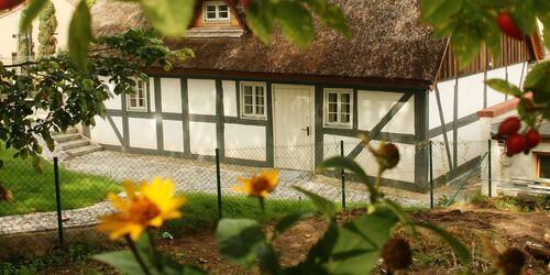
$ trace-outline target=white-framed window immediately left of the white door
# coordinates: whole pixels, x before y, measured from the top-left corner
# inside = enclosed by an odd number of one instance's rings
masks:
[[[241,117],[265,119],[265,84],[241,82]]]

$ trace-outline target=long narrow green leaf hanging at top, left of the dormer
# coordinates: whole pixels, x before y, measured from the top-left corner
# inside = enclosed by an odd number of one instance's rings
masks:
[[[85,69],[88,63],[88,46],[91,38],[90,11],[86,1],[80,1],[69,25],[69,54],[73,62],[80,69]]]

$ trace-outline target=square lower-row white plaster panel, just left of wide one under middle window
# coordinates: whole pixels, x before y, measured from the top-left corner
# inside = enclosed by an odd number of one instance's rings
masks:
[[[193,154],[216,155],[216,123],[190,121],[189,134]]]

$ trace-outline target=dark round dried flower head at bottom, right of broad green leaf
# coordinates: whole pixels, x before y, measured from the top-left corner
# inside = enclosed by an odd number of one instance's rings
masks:
[[[389,271],[406,270],[413,263],[409,243],[402,238],[392,238],[382,248],[382,258]]]

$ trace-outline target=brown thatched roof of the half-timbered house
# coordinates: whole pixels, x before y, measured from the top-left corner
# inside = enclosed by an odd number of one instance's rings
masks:
[[[296,74],[308,76],[409,79],[432,81],[444,53],[444,40],[436,41],[420,23],[419,0],[333,0],[348,18],[353,38],[346,41],[318,24],[307,51],[276,34],[262,44],[251,33],[240,38],[182,38],[173,47],[190,47],[196,58],[184,69]],[[98,0],[92,9],[96,35],[146,28],[139,6]]]

